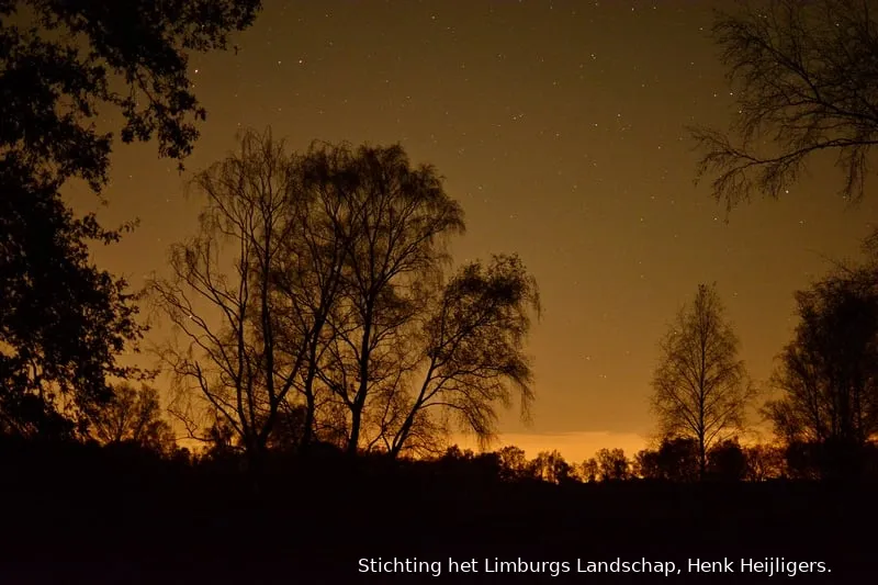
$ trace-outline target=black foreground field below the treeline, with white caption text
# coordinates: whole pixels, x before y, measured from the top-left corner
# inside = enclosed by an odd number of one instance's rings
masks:
[[[117,457],[2,458],[0,583],[875,583],[871,486],[552,486],[379,461],[290,463],[255,492],[228,468]],[[741,559],[830,572],[742,574]],[[361,559],[439,562],[439,576],[361,573]],[[479,573],[450,574],[449,558]],[[487,573],[485,560],[569,572]],[[674,562],[679,574],[577,573],[577,560]],[[734,573],[688,572],[688,560]],[[563,569],[559,565],[556,569]]]

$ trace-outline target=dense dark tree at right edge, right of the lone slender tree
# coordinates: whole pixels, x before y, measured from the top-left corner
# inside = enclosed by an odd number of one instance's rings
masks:
[[[878,286],[871,270],[838,271],[796,294],[800,323],[772,378],[765,405],[797,459],[853,472],[878,432]],[[807,448],[806,446],[812,447]],[[801,464],[797,464],[801,468]]]

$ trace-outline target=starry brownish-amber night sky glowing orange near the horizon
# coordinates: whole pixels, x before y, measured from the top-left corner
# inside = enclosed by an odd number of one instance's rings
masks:
[[[841,199],[832,158],[728,222],[709,184],[693,184],[685,126],[724,130],[735,115],[708,36],[717,5],[730,2],[269,0],[237,54],[191,60],[209,117],[182,176],[155,144],[120,145],[108,207],[85,188],[68,195],[108,226],[140,218],[95,250],[139,288],[193,233],[200,203],[185,180],[234,148],[239,128],[270,124],[296,150],[401,142],[463,205],[457,260],[515,251],[540,284],[533,424],[505,414],[502,443],[573,461],[600,447],[632,454],[654,430],[657,341],[699,282],[718,283],[764,382],[796,324],[793,291],[826,258],[856,258],[878,218],[874,200]]]

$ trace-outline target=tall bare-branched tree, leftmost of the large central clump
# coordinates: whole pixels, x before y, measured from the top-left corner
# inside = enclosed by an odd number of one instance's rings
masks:
[[[299,227],[300,178],[282,140],[270,131],[245,133],[237,154],[193,179],[206,199],[199,235],[171,248],[171,277],[149,285],[187,341],[160,353],[183,398],[195,390],[235,430],[252,464],[307,357],[307,336],[279,330],[278,307],[291,299],[273,286]]]

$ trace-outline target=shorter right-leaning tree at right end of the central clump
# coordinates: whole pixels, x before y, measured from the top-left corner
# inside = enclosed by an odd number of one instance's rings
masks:
[[[495,436],[496,405],[510,403],[510,385],[527,417],[533,374],[522,347],[530,308],[539,313],[539,292],[517,256],[495,256],[487,268],[471,262],[448,282],[424,326],[426,373],[417,394],[404,398],[408,414],[390,443],[393,455],[417,418],[435,409],[450,410],[485,445]]]

